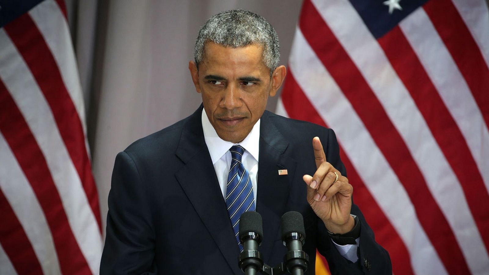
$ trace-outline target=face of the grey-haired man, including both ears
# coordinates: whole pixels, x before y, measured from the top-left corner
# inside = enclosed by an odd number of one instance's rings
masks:
[[[189,63],[192,80],[209,121],[223,140],[238,143],[251,131],[285,77],[285,67],[270,70],[262,46],[232,48],[209,42],[199,64]]]

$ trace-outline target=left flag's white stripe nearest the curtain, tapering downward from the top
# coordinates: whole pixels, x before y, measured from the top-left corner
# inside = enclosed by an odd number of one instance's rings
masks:
[[[44,40],[56,60],[65,87],[82,122],[83,133],[87,137],[83,92],[65,16],[55,0],[41,2],[29,11],[29,15],[43,34]],[[85,148],[89,153],[87,138],[85,138]]]

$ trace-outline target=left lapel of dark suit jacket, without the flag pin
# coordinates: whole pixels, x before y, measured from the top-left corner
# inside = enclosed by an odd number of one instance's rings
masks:
[[[200,107],[184,126],[177,156],[183,166],[176,177],[232,270],[238,267],[238,246],[212,160],[205,144]]]

